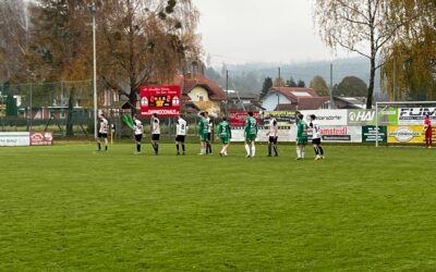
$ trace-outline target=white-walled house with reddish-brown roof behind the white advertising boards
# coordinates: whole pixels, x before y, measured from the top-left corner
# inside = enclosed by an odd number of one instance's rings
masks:
[[[328,109],[329,97],[320,97],[311,88],[272,87],[261,103],[267,111],[319,110]]]

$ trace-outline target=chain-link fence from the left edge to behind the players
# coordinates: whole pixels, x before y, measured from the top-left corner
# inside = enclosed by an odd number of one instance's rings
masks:
[[[132,129],[122,116],[132,114],[122,103],[113,102],[113,95],[98,90],[99,112],[111,124],[114,138],[132,137]],[[108,99],[111,97],[111,99]],[[113,106],[118,104],[118,106]],[[51,132],[56,139],[94,138],[94,98],[92,81],[27,83],[0,85],[1,132]],[[197,140],[196,112],[185,114],[189,138]],[[149,119],[142,119],[145,134],[149,133]],[[161,118],[162,139],[172,140],[177,118]],[[214,120],[215,125],[218,120]]]

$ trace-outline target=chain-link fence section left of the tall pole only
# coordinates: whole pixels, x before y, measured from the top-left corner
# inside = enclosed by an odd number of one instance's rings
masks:
[[[92,82],[0,85],[0,129],[50,131],[57,137],[93,132]]]

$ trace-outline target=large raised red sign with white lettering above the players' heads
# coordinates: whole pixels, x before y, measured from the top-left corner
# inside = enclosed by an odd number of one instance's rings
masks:
[[[170,118],[180,114],[181,94],[180,86],[141,86],[141,116],[147,118],[153,113]]]

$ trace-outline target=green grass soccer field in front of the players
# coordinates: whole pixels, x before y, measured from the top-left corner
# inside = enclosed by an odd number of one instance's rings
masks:
[[[435,151],[0,148],[0,271],[432,271]]]

